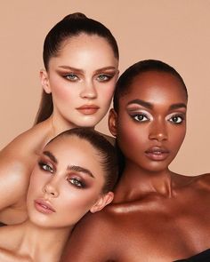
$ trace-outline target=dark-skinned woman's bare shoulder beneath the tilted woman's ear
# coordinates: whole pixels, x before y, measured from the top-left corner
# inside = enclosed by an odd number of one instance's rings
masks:
[[[85,215],[70,235],[61,261],[69,261],[69,258],[77,262],[100,262],[109,259],[114,248],[114,217],[108,207]]]

